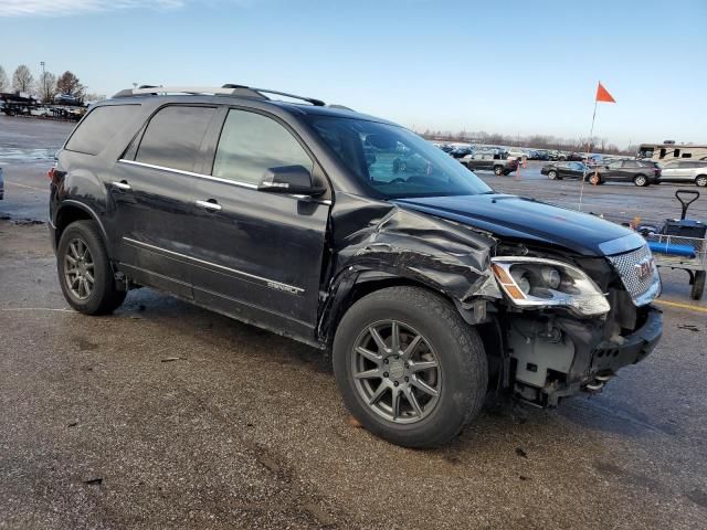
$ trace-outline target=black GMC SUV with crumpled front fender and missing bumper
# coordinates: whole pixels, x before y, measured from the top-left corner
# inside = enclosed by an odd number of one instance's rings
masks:
[[[72,307],[110,312],[149,286],[331,352],[351,413],[397,444],[450,441],[489,390],[542,406],[599,392],[661,337],[640,235],[497,193],[410,130],[318,99],[123,91],[51,176]]]

